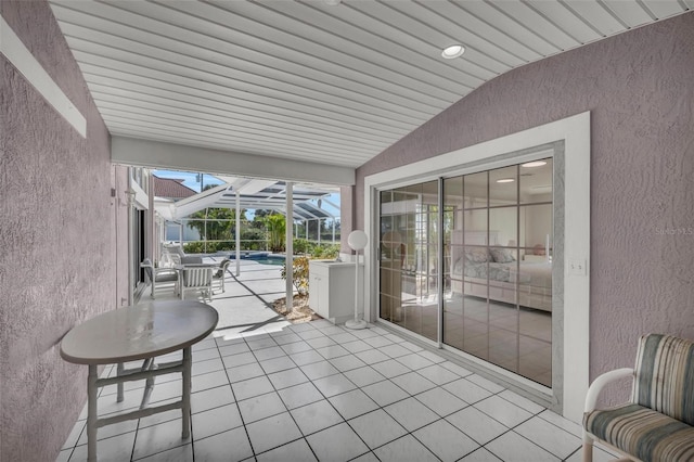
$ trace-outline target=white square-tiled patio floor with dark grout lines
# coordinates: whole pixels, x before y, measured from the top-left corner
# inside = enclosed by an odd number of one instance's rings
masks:
[[[264,305],[283,295],[277,268],[249,266],[215,297],[227,329],[193,348],[191,438],[180,411],[106,426],[100,461],[581,460],[579,425],[383,328],[278,318]],[[180,396],[166,380],[151,402]],[[99,413],[137,407],[142,386],[121,403],[103,388]],[[85,418],[59,461],[86,460]]]

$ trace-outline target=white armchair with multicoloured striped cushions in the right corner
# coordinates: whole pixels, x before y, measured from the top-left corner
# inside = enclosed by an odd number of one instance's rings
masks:
[[[596,410],[597,396],[617,378],[632,376],[631,401]],[[648,334],[639,341],[635,369],[618,369],[590,386],[583,414],[583,461],[593,440],[644,462],[694,461],[694,342]]]

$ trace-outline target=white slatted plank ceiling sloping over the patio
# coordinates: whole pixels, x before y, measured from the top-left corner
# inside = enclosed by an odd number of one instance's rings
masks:
[[[510,69],[694,0],[51,7],[113,134],[358,167]],[[455,60],[441,49],[465,46]]]

